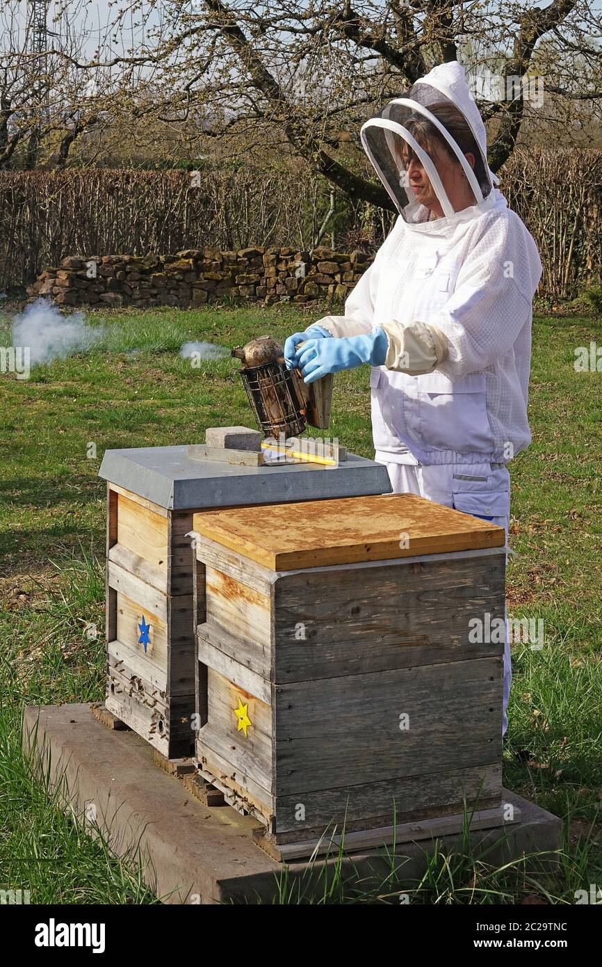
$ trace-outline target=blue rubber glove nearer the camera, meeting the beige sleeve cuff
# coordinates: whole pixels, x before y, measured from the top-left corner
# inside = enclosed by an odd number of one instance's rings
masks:
[[[311,339],[299,351],[298,366],[304,383],[313,383],[330,372],[355,369],[364,363],[383,366],[387,359],[388,339],[384,329],[366,336],[340,339]]]

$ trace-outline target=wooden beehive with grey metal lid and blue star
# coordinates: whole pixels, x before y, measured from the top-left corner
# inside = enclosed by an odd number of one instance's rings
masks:
[[[167,758],[192,754],[192,516],[208,508],[390,489],[384,466],[236,466],[186,446],[106,451],[106,707]],[[204,587],[204,574],[196,581]]]

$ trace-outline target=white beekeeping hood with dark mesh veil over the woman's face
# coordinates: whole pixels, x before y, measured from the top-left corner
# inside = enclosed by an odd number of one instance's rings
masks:
[[[453,72],[451,89],[440,80],[444,71]],[[416,81],[406,96],[391,101],[367,121],[360,137],[395,207],[408,222],[426,220],[435,198],[447,219],[468,207],[489,207],[493,201],[493,183],[498,179],[487,166],[485,129],[457,62],[441,65]],[[467,160],[469,153],[473,165]],[[459,192],[454,190],[458,185]],[[458,201],[459,197],[463,200]]]

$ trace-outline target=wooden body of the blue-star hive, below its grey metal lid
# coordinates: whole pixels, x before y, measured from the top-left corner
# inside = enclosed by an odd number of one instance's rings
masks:
[[[192,513],[107,484],[106,707],[167,758],[191,753]]]

